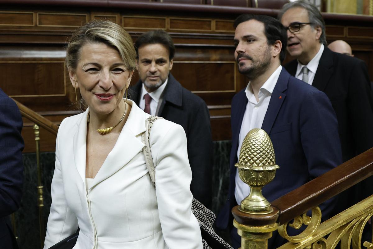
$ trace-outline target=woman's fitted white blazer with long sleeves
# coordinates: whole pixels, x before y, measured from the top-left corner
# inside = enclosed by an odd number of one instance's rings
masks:
[[[44,248],[79,226],[74,249],[202,249],[200,227],[191,212],[192,172],[184,129],[164,119],[153,123],[149,143],[156,167],[154,188],[141,140],[149,114],[133,101],[127,103],[132,106],[128,119],[100,170],[88,180],[90,186],[85,179],[88,110],[62,121]]]

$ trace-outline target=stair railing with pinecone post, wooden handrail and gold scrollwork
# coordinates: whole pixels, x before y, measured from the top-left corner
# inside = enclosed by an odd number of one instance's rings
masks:
[[[275,175],[273,171],[277,166],[272,143],[270,146],[261,145],[270,141],[264,132],[267,138],[252,145],[250,143],[255,141],[255,136],[251,138],[250,133],[242,144],[246,151],[240,152],[240,163],[236,166],[241,180],[250,186],[251,192],[241,205],[232,209],[233,225],[241,236],[241,249],[267,249],[268,239],[275,230],[289,241],[279,249],[333,249],[339,242],[341,248],[349,249],[351,245],[354,249],[361,249],[361,245],[373,248],[373,239],[369,239],[370,242],[362,239],[364,227],[373,217],[373,195],[323,223],[321,210],[317,207],[373,175],[373,148],[269,204],[261,195],[261,187],[272,181]],[[254,155],[254,160],[251,155]],[[264,156],[260,158],[257,155]],[[251,163],[253,161],[254,164]],[[310,210],[312,215],[308,216],[307,211]],[[287,226],[299,229],[302,225],[306,227],[304,230],[300,229],[296,236],[289,236]]]

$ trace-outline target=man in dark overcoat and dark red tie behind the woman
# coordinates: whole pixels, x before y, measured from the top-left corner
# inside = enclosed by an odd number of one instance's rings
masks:
[[[207,105],[170,73],[175,46],[166,31],[160,29],[141,35],[135,42],[135,50],[140,81],[131,88],[131,98],[145,112],[184,128],[192,169],[191,192],[211,208],[212,138]]]

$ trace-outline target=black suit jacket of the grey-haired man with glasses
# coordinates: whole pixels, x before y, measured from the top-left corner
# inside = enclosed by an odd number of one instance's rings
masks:
[[[297,60],[285,65],[291,75]],[[355,57],[325,47],[312,85],[325,92],[332,102],[339,124],[343,161],[373,147],[373,103],[367,66]],[[336,214],[373,194],[373,178],[342,193]]]

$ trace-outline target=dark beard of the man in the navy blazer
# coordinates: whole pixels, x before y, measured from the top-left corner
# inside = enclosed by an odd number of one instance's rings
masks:
[[[254,61],[252,57],[239,54],[237,56],[238,72],[245,75],[249,80],[256,79],[267,71],[269,64],[271,63],[270,48],[268,47],[263,54],[263,60]],[[238,59],[244,57],[252,61],[251,65],[245,68],[239,67]]]

